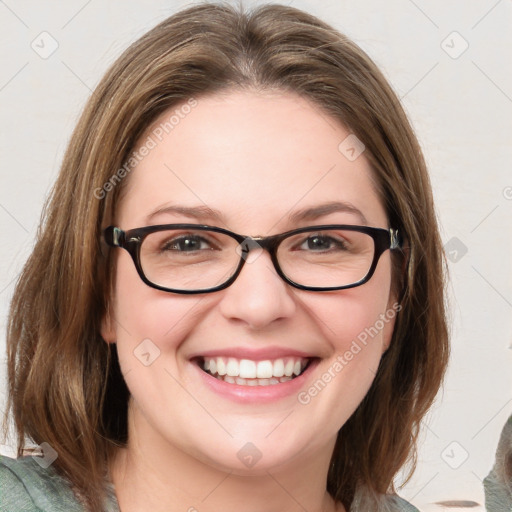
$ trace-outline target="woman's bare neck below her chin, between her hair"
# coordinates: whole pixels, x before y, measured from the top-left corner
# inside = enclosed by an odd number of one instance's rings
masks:
[[[214,467],[190,447],[155,434],[140,411],[129,410],[129,441],[111,464],[122,512],[344,512],[326,491],[333,446],[251,474]],[[214,449],[214,448],[213,448]],[[330,451],[329,451],[330,450]]]

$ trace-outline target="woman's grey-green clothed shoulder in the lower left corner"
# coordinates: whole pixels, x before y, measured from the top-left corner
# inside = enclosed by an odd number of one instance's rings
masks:
[[[0,512],[83,511],[69,484],[33,457],[0,456]]]

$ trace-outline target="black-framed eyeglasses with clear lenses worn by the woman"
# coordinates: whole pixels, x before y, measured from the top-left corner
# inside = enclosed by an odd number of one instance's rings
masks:
[[[249,237],[197,224],[109,226],[106,243],[128,251],[141,279],[172,293],[210,293],[227,288],[250,254],[266,250],[278,275],[301,290],[354,288],[373,275],[380,256],[402,247],[398,230],[367,226],[308,226],[279,235]],[[252,258],[252,261],[254,258]]]

